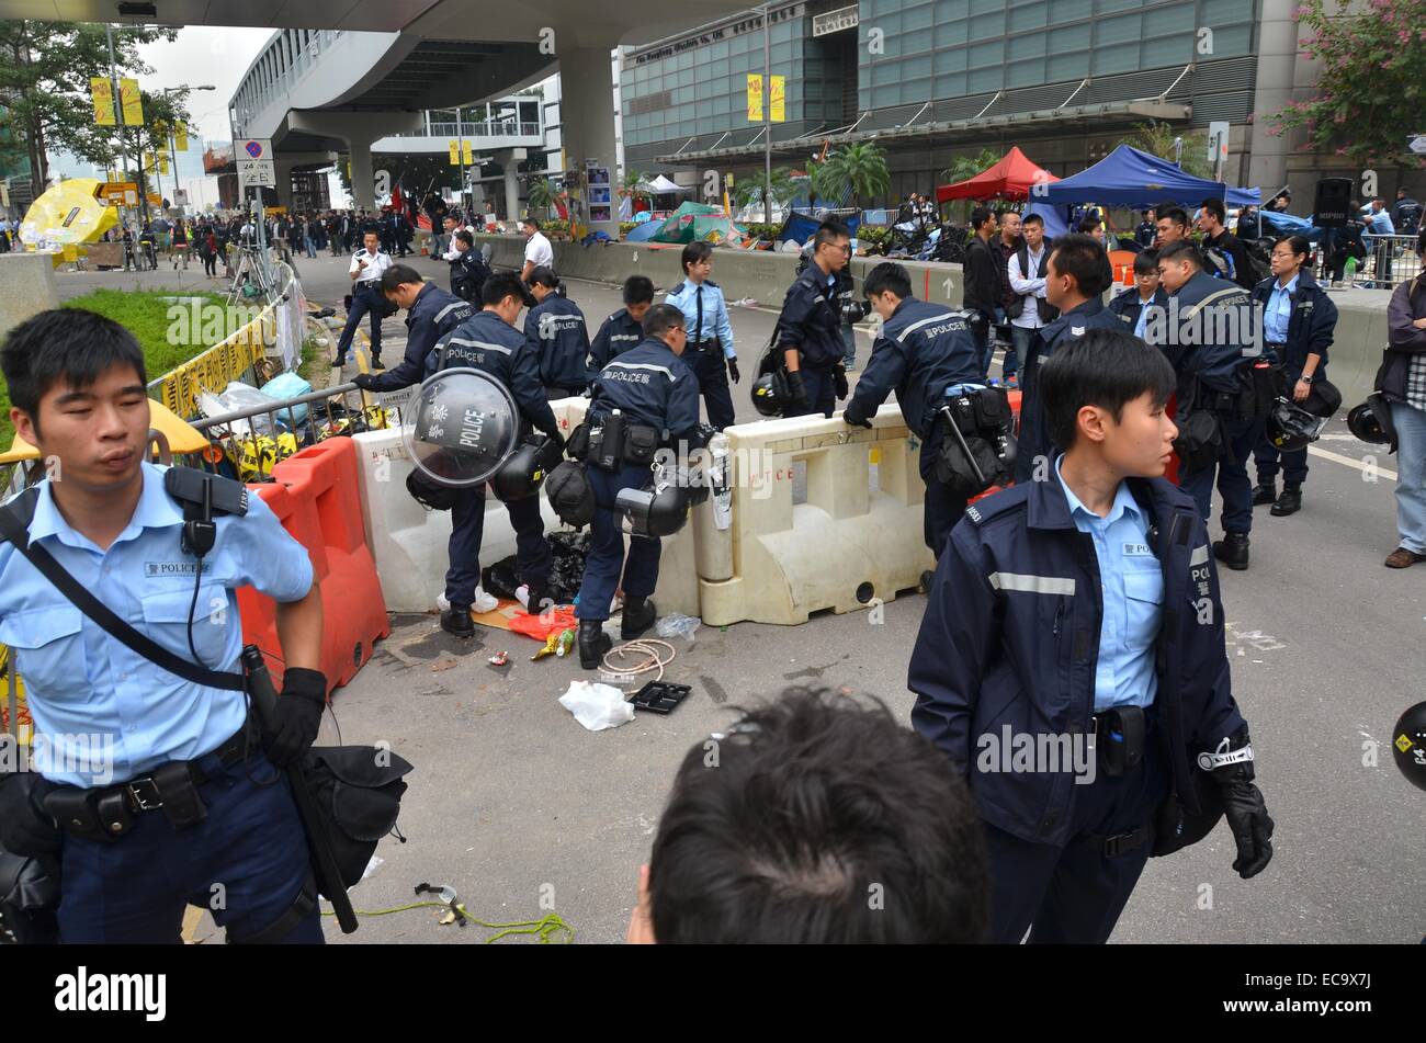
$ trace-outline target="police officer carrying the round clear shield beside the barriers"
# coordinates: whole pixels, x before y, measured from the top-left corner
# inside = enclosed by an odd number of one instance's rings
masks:
[[[398,265],[392,271],[401,271],[401,268],[402,265]],[[408,365],[415,362],[408,353],[406,362],[389,373],[379,376],[364,373],[356,378],[356,383],[372,390],[394,390],[416,383],[439,369],[462,366],[479,369],[509,388],[516,406],[519,406],[520,417],[526,423],[552,437],[556,445],[563,446],[565,440],[559,433],[559,423],[555,420],[555,413],[550,410],[539,383],[539,363],[526,339],[515,326],[520,309],[529,302],[529,295],[519,276],[513,272],[502,272],[486,279],[482,288],[483,306],[473,315],[471,306],[463,301],[451,298],[449,294],[443,294],[431,284],[426,284],[421,294],[428,296],[432,291],[442,294],[439,301],[455,301],[458,306],[452,309],[452,315],[463,309],[459,323],[442,322],[439,325],[439,341],[432,342],[434,351],[421,355],[422,366],[408,369]],[[398,292],[411,294],[411,288],[404,286]],[[435,305],[424,305],[418,299],[416,306],[425,312]],[[476,603],[476,591],[481,584],[485,486],[478,484],[453,492],[455,504],[451,509],[451,541],[448,544],[451,567],[446,570],[445,587],[445,597],[451,607],[441,613],[441,627],[455,637],[471,637],[475,633],[475,624],[471,621],[471,606]],[[549,577],[555,566],[549,543],[545,540],[539,497],[509,500],[505,509],[509,512],[511,526],[515,529],[518,570],[530,590],[530,611],[538,611],[550,600]]]

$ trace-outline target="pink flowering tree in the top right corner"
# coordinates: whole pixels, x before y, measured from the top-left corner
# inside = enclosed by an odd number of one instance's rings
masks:
[[[1426,0],[1369,0],[1353,14],[1335,0],[1296,10],[1302,54],[1322,66],[1318,97],[1268,118],[1278,133],[1302,127],[1306,148],[1362,165],[1410,162],[1406,142],[1426,133]]]

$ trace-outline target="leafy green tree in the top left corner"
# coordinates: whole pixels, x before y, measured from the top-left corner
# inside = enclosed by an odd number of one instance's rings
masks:
[[[130,27],[114,33],[114,63],[121,76],[153,73],[138,56],[143,44],[174,40],[175,28]],[[108,77],[104,26],[93,23],[0,21],[0,154],[30,161],[30,184],[40,195],[48,184],[50,148],[63,148],[90,162],[116,165],[116,127],[94,123],[90,78]],[[157,101],[157,98],[155,98]],[[144,118],[150,120],[150,98]],[[116,98],[116,108],[117,98]],[[116,118],[123,118],[117,114]],[[130,155],[140,128],[121,128]]]

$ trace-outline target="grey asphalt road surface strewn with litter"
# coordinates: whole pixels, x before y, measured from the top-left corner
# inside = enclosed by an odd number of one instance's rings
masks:
[[[412,261],[446,285],[443,262]],[[339,308],[347,258],[299,258],[298,266],[308,298]],[[96,285],[207,282],[201,268],[56,278],[64,296]],[[620,306],[616,286],[572,282],[569,295],[590,335]],[[744,375],[773,321],[767,311],[732,309]],[[386,329],[392,341],[405,333],[399,316]],[[858,333],[861,360],[868,348]],[[388,363],[398,358],[384,353]],[[746,376],[733,399],[740,422],[756,419]],[[1426,566],[1382,566],[1396,546],[1395,457],[1356,442],[1340,420],[1310,452],[1302,512],[1276,519],[1258,509],[1252,567],[1219,573],[1233,695],[1276,822],[1273,861],[1238,879],[1224,826],[1151,861],[1117,942],[1416,943],[1426,933],[1426,795],[1400,777],[1390,749],[1397,715],[1426,698]],[[1216,507],[1211,527],[1216,537]],[[558,702],[572,680],[589,677],[578,660],[530,663],[536,645],[523,637],[478,628],[462,644],[434,614],[395,618],[372,663],[337,692],[335,720],[328,715],[319,738],[385,741],[416,765],[402,804],[406,842],[381,844],[382,862],[352,891],[354,903],[391,909],[412,902],[418,883],[449,883],[485,920],[553,912],[576,942],[620,940],[683,755],[724,728],[736,705],[789,685],[877,697],[908,720],[906,667],[924,604],[903,594],[880,617],[702,627],[692,644],[674,640],[667,673],[693,695],[669,717],[639,714],[605,732],[585,731]],[[498,651],[511,653],[509,667],[488,663]],[[492,933],[438,919],[432,909],[369,916],[351,939],[328,922],[328,940],[459,945]],[[212,933],[198,928],[197,936]]]

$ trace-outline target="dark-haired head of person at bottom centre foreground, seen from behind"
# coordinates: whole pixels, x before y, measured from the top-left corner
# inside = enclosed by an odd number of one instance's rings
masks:
[[[985,940],[970,794],[886,704],[789,688],[683,758],[630,942]]]

